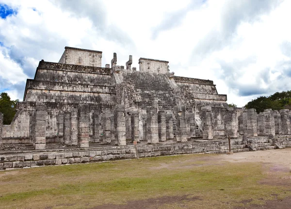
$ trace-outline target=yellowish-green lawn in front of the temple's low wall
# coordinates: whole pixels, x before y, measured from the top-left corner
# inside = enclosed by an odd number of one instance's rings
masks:
[[[215,155],[184,155],[0,172],[0,208],[94,208],[162,196],[196,197],[163,208],[240,206],[283,198],[283,186],[262,185],[260,163],[216,162]],[[213,161],[214,159],[214,161]],[[290,190],[291,188],[289,188]]]

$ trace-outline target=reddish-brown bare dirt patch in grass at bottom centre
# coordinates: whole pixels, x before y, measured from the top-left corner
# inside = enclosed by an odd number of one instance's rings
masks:
[[[192,197],[190,195],[183,196],[163,196],[159,198],[149,198],[146,200],[128,201],[125,205],[106,204],[94,207],[92,209],[158,209],[163,204],[178,203],[181,201],[200,200],[199,197]]]

